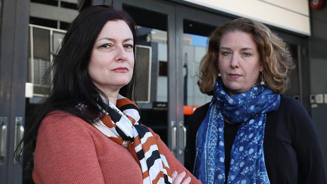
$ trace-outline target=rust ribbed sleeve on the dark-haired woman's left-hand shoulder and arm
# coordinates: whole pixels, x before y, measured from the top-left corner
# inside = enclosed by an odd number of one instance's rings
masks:
[[[73,117],[46,117],[38,131],[36,183],[104,183],[90,132]]]

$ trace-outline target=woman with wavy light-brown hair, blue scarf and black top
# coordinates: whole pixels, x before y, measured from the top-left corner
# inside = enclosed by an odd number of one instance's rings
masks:
[[[203,183],[326,183],[312,120],[280,95],[293,68],[262,23],[240,18],[213,31],[198,81],[213,98],[194,112],[188,139]]]

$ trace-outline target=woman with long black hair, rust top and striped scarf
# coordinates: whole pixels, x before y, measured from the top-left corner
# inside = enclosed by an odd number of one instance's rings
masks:
[[[138,122],[130,100],[135,45],[136,25],[124,11],[89,7],[71,23],[53,61],[52,91],[23,138],[34,150],[36,183],[200,182]]]

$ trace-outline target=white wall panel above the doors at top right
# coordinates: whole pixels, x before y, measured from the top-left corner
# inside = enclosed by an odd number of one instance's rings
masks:
[[[281,3],[281,1],[274,4],[267,3],[259,0],[183,0],[193,4],[198,4],[204,7],[215,9],[228,14],[236,15],[239,17],[247,17],[255,19],[265,24],[269,24],[275,27],[300,33],[310,36],[310,20],[308,13],[304,11],[305,0],[291,0],[291,2],[299,3],[299,8],[291,8],[292,4]],[[266,1],[266,0],[265,0]],[[283,1],[284,2],[284,1]],[[287,1],[285,1],[287,2]],[[306,1],[307,2],[307,1]],[[295,4],[296,4],[295,3]],[[284,6],[284,7],[282,7]],[[306,4],[308,7],[308,3]],[[302,10],[303,9],[303,10]],[[308,9],[308,8],[307,8]],[[298,13],[298,12],[301,13]]]

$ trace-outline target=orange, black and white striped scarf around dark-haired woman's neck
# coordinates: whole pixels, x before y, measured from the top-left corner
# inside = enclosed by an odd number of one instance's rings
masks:
[[[118,95],[116,106],[109,102],[104,118],[93,125],[107,137],[127,147],[139,162],[144,183],[172,183],[165,155],[147,127],[138,123],[140,110],[132,101]]]

